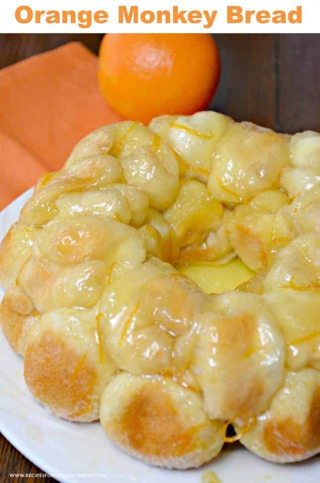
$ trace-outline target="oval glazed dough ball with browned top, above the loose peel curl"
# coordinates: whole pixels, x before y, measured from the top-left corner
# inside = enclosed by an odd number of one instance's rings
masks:
[[[282,334],[258,296],[213,297],[192,362],[208,416],[246,422],[266,410],[282,382],[284,356]]]

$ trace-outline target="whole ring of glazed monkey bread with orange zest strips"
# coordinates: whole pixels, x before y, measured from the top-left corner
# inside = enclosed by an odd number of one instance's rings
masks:
[[[318,133],[214,112],[86,136],[0,245],[0,324],[30,391],[158,466],[237,439],[271,461],[318,453],[319,181]],[[178,271],[235,256],[256,276],[233,292]]]

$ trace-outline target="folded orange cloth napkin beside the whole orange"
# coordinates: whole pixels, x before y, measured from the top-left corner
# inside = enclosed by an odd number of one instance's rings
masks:
[[[85,134],[121,120],[99,91],[97,66],[72,42],[0,70],[0,209],[61,168]]]

